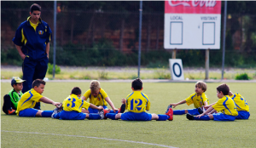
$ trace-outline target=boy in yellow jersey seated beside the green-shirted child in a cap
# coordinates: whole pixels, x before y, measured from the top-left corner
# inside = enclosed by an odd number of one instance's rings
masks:
[[[33,81],[32,89],[23,94],[18,103],[16,113],[19,117],[51,117],[53,111],[41,111],[33,108],[39,101],[55,106],[61,105],[61,103],[41,95],[44,92],[44,86],[45,82],[41,79]]]

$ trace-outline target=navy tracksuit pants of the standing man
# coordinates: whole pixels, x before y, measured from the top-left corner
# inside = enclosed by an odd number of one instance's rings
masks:
[[[32,88],[32,82],[35,79],[44,79],[48,68],[48,61],[47,56],[41,60],[32,60],[32,58],[29,57],[25,58],[22,65],[22,72],[23,80],[26,81],[23,83],[22,93]],[[38,102],[34,108],[40,110],[40,102]]]

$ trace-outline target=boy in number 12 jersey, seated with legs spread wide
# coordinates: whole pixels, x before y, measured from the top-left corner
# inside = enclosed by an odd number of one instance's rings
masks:
[[[139,78],[135,79],[131,83],[131,89],[133,93],[129,94],[125,99],[122,99],[122,103],[125,104],[125,109],[128,112],[125,113],[107,113],[106,117],[112,120],[122,119],[126,121],[166,121],[167,119],[172,121],[172,108],[169,108],[166,115],[149,114],[145,111],[150,109],[150,101],[148,96],[142,93],[143,82]]]

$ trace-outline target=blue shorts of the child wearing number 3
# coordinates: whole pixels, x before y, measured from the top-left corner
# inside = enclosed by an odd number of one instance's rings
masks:
[[[86,114],[78,111],[61,111],[60,119],[62,120],[84,120]]]

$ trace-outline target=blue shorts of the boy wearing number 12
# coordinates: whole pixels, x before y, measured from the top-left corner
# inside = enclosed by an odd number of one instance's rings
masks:
[[[127,121],[150,121],[151,118],[152,115],[147,112],[136,113],[128,111],[121,115],[121,119]]]

